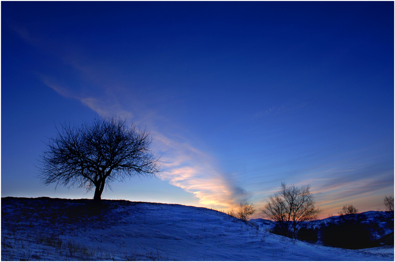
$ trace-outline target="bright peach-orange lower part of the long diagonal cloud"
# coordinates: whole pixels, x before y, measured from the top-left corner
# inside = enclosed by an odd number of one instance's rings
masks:
[[[249,197],[242,188],[233,185],[231,175],[227,177],[219,171],[213,157],[161,133],[153,132],[152,135],[155,148],[164,155],[160,179],[193,193],[201,205],[232,208]]]

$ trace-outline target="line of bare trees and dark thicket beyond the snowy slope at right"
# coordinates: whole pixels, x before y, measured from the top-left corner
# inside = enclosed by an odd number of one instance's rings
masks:
[[[380,213],[381,222],[394,229],[394,197],[385,196],[386,213]],[[267,218],[275,222],[271,232],[307,242],[320,241],[323,245],[347,249],[377,246],[372,232],[383,230],[378,221],[366,222],[354,205],[345,205],[339,211],[340,218],[326,225],[313,225],[321,210],[315,207],[310,186],[296,187],[281,183],[262,209]],[[391,244],[391,237],[390,244]],[[392,237],[392,245],[394,243]]]

